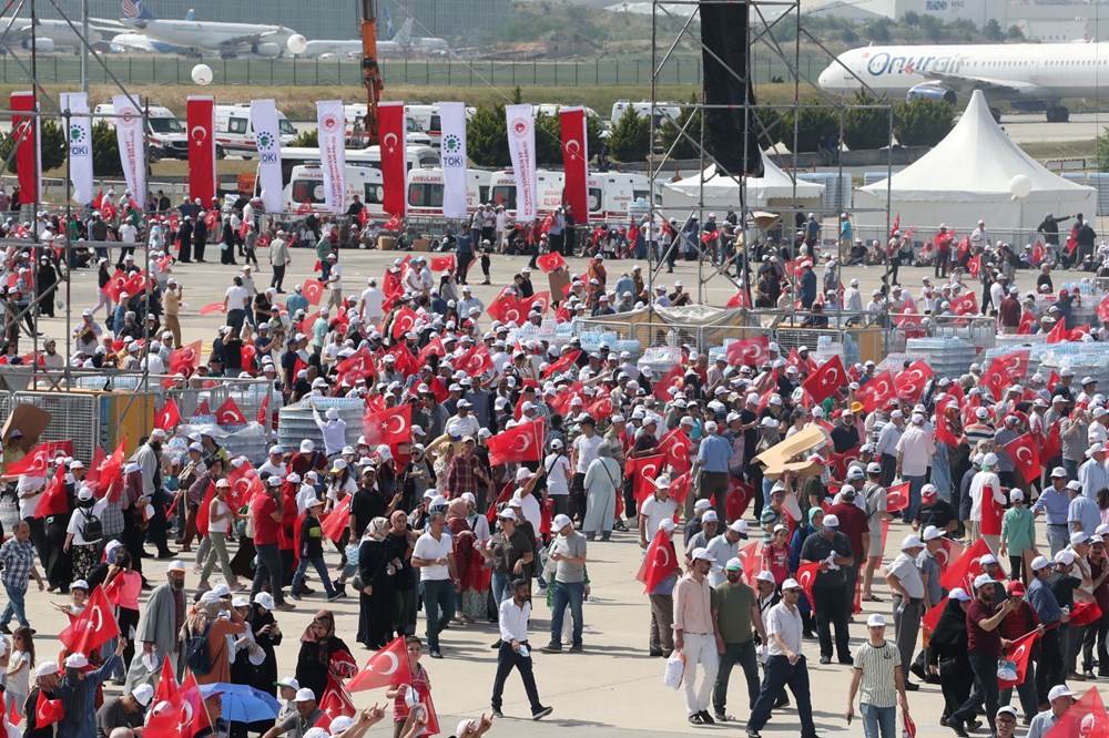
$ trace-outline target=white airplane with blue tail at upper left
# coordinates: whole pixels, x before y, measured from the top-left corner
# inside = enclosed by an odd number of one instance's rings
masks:
[[[224,59],[244,53],[281,57],[296,33],[283,25],[159,20],[143,0],[123,0],[123,23],[152,42],[189,49],[196,55],[218,52]]]

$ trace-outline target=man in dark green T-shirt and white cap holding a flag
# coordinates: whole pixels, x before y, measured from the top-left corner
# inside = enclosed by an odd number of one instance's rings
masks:
[[[752,625],[762,642],[766,643],[766,628],[754,590],[743,583],[743,562],[728,560],[724,575],[728,581],[712,591],[712,619],[718,633],[716,650],[720,652],[720,670],[712,689],[713,717],[718,722],[735,720],[724,705],[728,703],[728,678],[736,664],[743,667],[743,676],[747,680],[747,708],[754,707],[759,699],[760,679]]]

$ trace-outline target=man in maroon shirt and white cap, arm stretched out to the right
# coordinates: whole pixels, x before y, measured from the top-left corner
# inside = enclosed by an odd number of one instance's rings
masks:
[[[981,574],[974,581],[977,597],[967,608],[967,652],[970,670],[974,672],[974,691],[963,706],[947,718],[947,727],[957,736],[965,736],[966,724],[985,705],[986,719],[990,732],[995,732],[994,717],[997,715],[998,686],[997,659],[1001,656],[1001,621],[1016,609],[1016,599],[1005,599],[999,607],[994,606],[997,582],[989,574]]]

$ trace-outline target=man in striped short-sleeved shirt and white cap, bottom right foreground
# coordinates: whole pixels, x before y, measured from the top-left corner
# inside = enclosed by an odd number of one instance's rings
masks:
[[[866,618],[869,639],[855,652],[855,669],[847,690],[847,724],[855,715],[855,695],[863,716],[866,738],[894,738],[897,735],[897,696],[908,715],[905,678],[897,647],[886,640],[886,619],[877,613]]]

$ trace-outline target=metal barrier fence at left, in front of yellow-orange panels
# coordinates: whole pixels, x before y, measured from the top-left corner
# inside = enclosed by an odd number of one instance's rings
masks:
[[[0,414],[7,417],[16,406],[33,404],[52,416],[50,426],[43,431],[47,441],[69,440],[73,442],[74,457],[85,463],[99,445],[111,453],[121,441],[126,440],[125,451],[132,453],[145,441],[154,427],[156,413],[173,400],[181,414],[177,438],[171,440],[171,448],[183,453],[182,438],[190,428],[212,429],[217,442],[233,455],[245,455],[252,462],[260,462],[266,455],[266,448],[273,437],[272,423],[256,422],[269,382],[262,379],[200,378],[186,386],[180,382],[163,387],[165,376],[133,371],[70,369],[34,370],[8,367],[4,369],[7,382],[16,385],[13,377],[26,378],[29,388],[22,391],[0,392]],[[212,385],[199,386],[200,382]],[[23,382],[20,382],[23,383]],[[33,388],[33,389],[32,389]],[[221,422],[216,412],[227,400],[233,400],[242,412],[246,424]],[[208,412],[203,412],[204,407]],[[277,396],[271,398],[269,409],[276,412],[281,407]],[[197,410],[202,412],[197,414]]]

